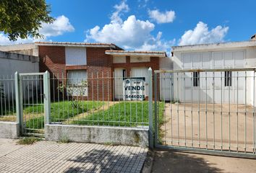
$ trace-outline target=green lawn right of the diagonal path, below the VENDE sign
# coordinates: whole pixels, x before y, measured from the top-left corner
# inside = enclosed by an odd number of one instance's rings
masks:
[[[159,102],[159,125],[163,123],[163,102]],[[154,106],[153,106],[154,112]],[[154,116],[153,116],[154,117]],[[148,101],[143,102],[120,102],[109,107],[108,110],[101,110],[74,120],[71,124],[78,125],[115,125],[132,126],[148,125]]]

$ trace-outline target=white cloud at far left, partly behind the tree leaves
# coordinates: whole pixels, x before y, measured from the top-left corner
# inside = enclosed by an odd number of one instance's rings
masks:
[[[39,30],[39,33],[44,35],[43,39],[35,39],[33,37],[27,37],[26,39],[18,38],[17,41],[10,41],[7,35],[0,32],[0,45],[12,45],[20,43],[33,43],[35,41],[48,40],[48,37],[54,37],[58,35],[63,35],[64,32],[72,32],[74,27],[70,24],[69,19],[64,15],[56,17],[56,20],[51,24],[43,23]]]

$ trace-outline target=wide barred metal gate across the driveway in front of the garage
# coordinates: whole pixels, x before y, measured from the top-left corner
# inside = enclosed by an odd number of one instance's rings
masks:
[[[155,146],[255,156],[255,68],[155,71],[154,80]]]

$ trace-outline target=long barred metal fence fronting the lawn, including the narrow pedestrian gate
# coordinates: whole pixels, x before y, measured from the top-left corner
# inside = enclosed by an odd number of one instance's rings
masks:
[[[2,77],[1,120],[17,121],[23,135],[37,136],[48,123],[148,127],[148,74],[72,72]]]

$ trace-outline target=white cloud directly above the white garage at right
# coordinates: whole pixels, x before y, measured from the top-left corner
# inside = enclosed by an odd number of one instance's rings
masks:
[[[194,30],[187,30],[179,40],[179,45],[195,45],[203,43],[221,43],[224,40],[229,27],[221,27],[218,25],[212,30],[208,29],[208,25],[198,22]]]

